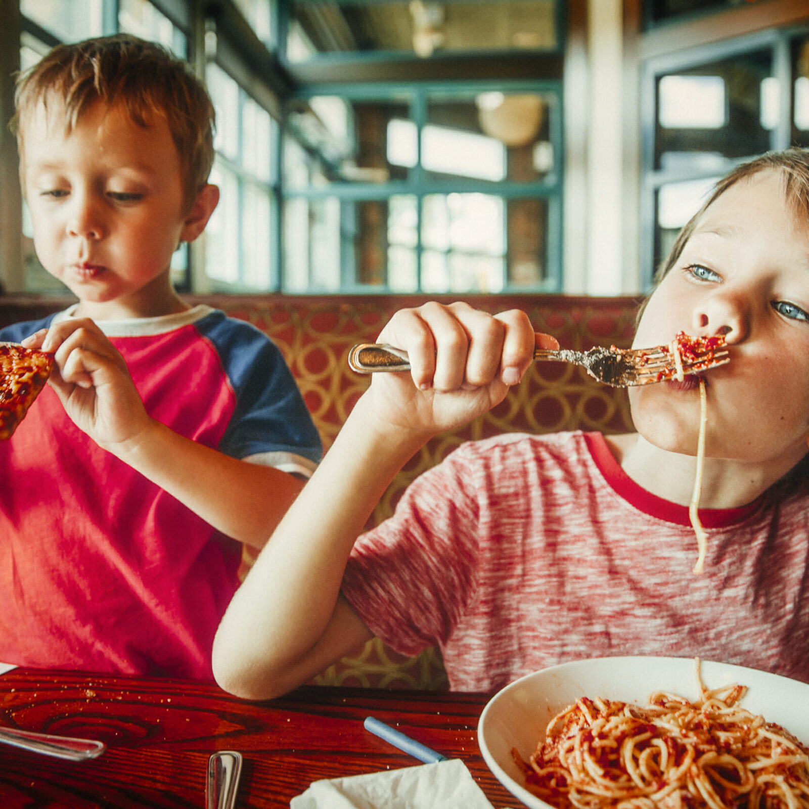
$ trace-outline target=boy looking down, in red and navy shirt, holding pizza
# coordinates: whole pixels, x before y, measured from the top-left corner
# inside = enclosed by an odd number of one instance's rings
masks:
[[[0,332],[56,361],[0,444],[0,660],[209,678],[242,543],[321,451],[269,339],[172,287],[218,201],[213,107],[183,62],[113,36],[23,74],[15,124],[37,255],[78,303]]]

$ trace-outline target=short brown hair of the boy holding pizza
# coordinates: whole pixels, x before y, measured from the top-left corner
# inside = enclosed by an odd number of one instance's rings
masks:
[[[155,112],[165,116],[180,155],[186,205],[207,183],[214,163],[214,105],[188,64],[161,45],[127,34],[61,44],[20,74],[11,121],[20,158],[25,123],[49,98],[65,105],[68,131],[99,100],[123,104],[143,127]]]

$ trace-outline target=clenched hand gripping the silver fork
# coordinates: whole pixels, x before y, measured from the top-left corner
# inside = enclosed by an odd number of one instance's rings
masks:
[[[499,404],[531,365],[536,345],[558,347],[534,332],[523,311],[491,316],[466,303],[398,311],[377,341],[405,349],[411,371],[374,375],[376,413],[393,427],[428,436]]]

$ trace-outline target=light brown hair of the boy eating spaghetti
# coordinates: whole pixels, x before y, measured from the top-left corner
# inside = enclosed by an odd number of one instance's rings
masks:
[[[693,215],[677,234],[674,244],[663,263],[655,273],[655,285],[663,280],[668,271],[677,263],[680,254],[683,252],[685,244],[693,235],[697,224],[700,222],[705,210],[717,201],[731,185],[739,180],[748,180],[759,172],[774,170],[781,172],[784,179],[784,195],[787,203],[792,207],[795,214],[807,219],[809,224],[809,150],[801,149],[798,146],[791,146],[789,149],[781,151],[765,152],[763,155],[748,160],[747,163],[740,163],[726,176],[722,177],[713,191],[710,193],[700,210]]]

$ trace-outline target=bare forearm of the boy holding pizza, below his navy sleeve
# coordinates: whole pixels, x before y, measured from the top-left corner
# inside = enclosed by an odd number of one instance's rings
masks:
[[[304,481],[231,458],[153,421],[136,441],[107,447],[218,531],[262,548]]]

